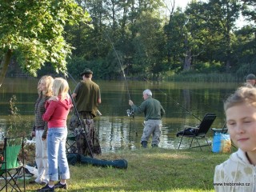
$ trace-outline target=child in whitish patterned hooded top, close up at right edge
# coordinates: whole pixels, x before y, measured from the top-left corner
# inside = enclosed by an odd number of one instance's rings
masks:
[[[226,125],[238,151],[215,167],[216,191],[256,191],[256,88],[240,87],[224,103]]]

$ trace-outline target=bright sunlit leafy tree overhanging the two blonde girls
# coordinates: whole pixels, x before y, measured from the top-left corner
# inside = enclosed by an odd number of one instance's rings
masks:
[[[34,76],[45,62],[64,73],[72,49],[64,26],[89,22],[89,14],[74,0],[0,0],[0,5],[0,87],[12,56]]]

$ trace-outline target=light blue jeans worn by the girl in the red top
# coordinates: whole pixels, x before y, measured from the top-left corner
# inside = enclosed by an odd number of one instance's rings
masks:
[[[48,163],[50,181],[58,181],[58,169],[61,179],[70,178],[70,169],[66,159],[66,127],[48,129]]]

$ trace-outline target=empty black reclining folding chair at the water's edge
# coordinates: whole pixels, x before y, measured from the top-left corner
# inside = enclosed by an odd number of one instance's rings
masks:
[[[202,150],[202,146],[210,147],[210,141],[209,141],[209,138],[206,138],[206,134],[207,134],[208,130],[210,130],[210,126],[213,124],[215,118],[216,118],[216,114],[208,113],[208,114],[205,114],[204,118],[202,119],[202,122],[198,126],[195,126],[195,127],[185,126],[182,133],[181,132],[178,133],[178,134],[182,134],[182,138],[181,138],[181,141],[179,142],[178,149],[181,146],[182,139],[184,137],[191,139],[190,149],[195,148],[195,147],[200,147],[200,149]],[[190,132],[190,134],[186,134],[188,131]],[[193,143],[194,139],[197,141],[198,146],[192,147],[192,143]],[[200,142],[198,141],[199,139],[205,139],[207,144],[200,145]]]

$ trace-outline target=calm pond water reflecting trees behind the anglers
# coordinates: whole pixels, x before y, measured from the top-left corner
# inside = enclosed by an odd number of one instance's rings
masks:
[[[78,80],[77,80],[78,81]],[[225,122],[223,100],[242,85],[242,82],[149,82],[149,81],[98,81],[101,88],[102,104],[99,106],[102,116],[94,118],[102,153],[123,149],[134,150],[140,146],[143,130],[143,114],[128,117],[128,100],[140,105],[142,91],[150,89],[157,98],[166,115],[162,119],[160,147],[176,149],[180,138],[176,133],[184,126],[196,126],[204,114],[215,113],[217,118],[212,127],[222,128]],[[15,95],[15,106],[19,110],[23,126],[18,131],[30,134],[34,122],[34,102],[37,94],[38,78],[6,78],[0,88],[0,139],[2,132],[10,126],[10,98]],[[75,83],[69,80],[70,89]],[[69,118],[71,113],[69,115]],[[17,119],[16,119],[17,120]],[[11,121],[14,121],[12,119]],[[211,134],[211,133],[210,133]],[[184,147],[184,146],[182,146]]]

